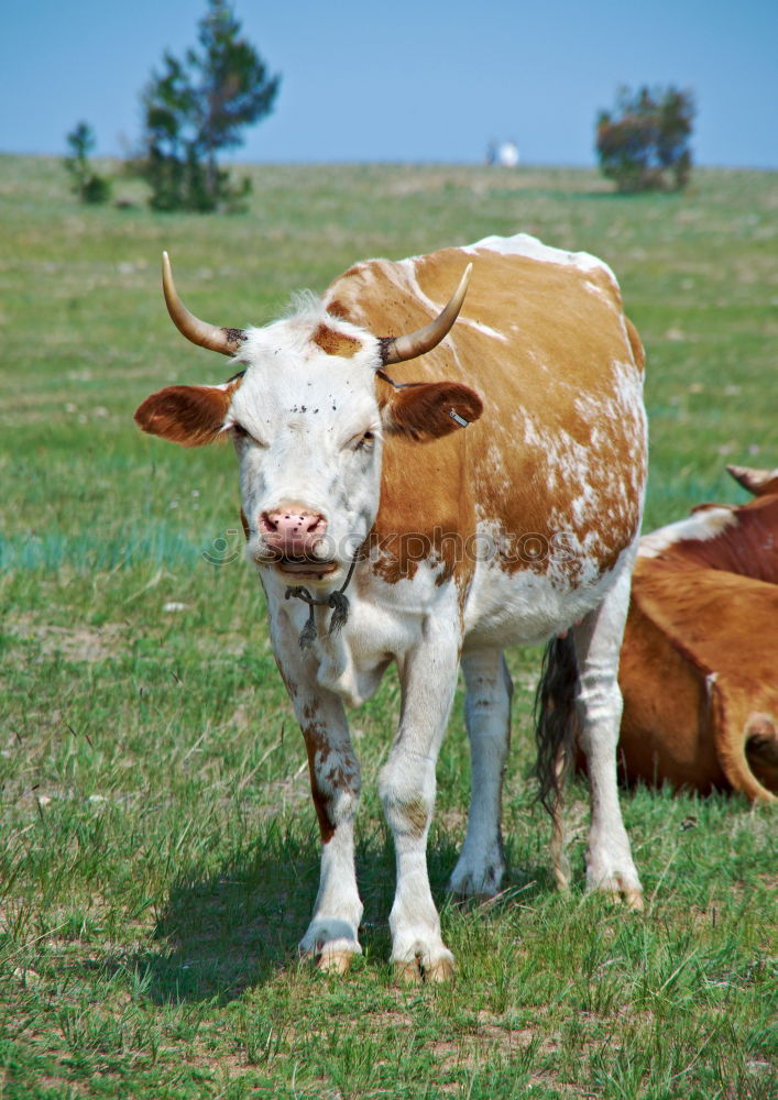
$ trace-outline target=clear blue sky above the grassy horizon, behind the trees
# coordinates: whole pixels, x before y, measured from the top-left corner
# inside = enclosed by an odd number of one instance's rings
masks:
[[[0,152],[62,153],[84,119],[98,151],[140,134],[163,50],[196,42],[205,0],[28,0],[0,34]],[[620,84],[691,87],[694,157],[778,168],[776,0],[237,0],[283,76],[246,161],[478,163],[515,140],[527,164],[594,163]]]

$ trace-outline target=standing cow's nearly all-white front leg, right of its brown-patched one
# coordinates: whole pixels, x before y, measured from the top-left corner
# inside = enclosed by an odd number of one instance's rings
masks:
[[[399,661],[399,730],[381,770],[379,792],[394,837],[397,884],[390,914],[392,963],[402,980],[443,981],[453,956],[427,875],[427,835],[435,806],[435,768],[457,685],[459,638],[448,620]]]

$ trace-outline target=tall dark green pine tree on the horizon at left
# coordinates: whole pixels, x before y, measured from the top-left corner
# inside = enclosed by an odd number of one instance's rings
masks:
[[[242,142],[241,131],[273,110],[281,84],[270,76],[227,0],[208,0],[198,23],[200,52],[169,53],[143,94],[141,174],[157,210],[235,208],[250,190],[235,187],[217,154]]]

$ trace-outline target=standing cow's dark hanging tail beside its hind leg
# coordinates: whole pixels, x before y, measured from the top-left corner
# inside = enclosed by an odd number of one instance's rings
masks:
[[[576,644],[568,631],[546,646],[535,696],[538,798],[551,815],[551,857],[558,886],[567,889],[570,867],[565,855],[562,818],[565,781],[572,767],[578,730],[576,700],[579,673]]]

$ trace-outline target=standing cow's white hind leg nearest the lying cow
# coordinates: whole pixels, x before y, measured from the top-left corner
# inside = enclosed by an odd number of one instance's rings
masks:
[[[602,604],[573,628],[579,666],[579,738],[591,784],[591,825],[587,853],[587,887],[623,895],[643,908],[643,889],[633,862],[616,784],[616,747],[622,721],[618,656],[629,607],[634,553],[625,556],[620,574]]]

